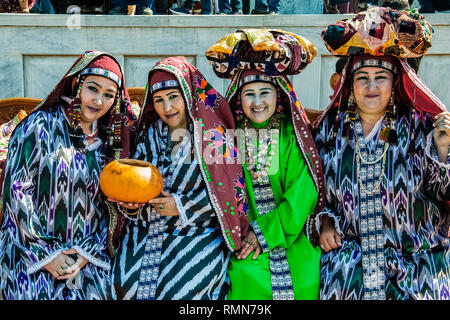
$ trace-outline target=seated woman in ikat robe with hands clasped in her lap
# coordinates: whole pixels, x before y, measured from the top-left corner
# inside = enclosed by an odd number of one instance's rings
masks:
[[[16,127],[3,184],[4,299],[106,298],[109,219],[99,175],[128,157],[128,107],[117,60],[89,51]]]

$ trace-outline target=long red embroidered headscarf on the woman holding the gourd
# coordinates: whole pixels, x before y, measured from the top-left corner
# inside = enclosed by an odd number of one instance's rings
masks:
[[[242,165],[236,161],[237,151],[230,149],[226,143],[228,141],[226,131],[236,129],[233,115],[227,100],[185,57],[163,59],[150,70],[137,132],[146,130],[153,121],[158,119],[151,98],[151,85],[173,79],[178,82],[186,102],[186,114],[194,125],[194,151],[201,164],[202,177],[207,186],[211,205],[217,212],[225,243],[230,251],[239,250],[248,229],[248,204],[245,197]],[[212,132],[213,140],[206,139],[206,135],[202,139],[201,132],[204,134]],[[213,146],[224,146],[216,150],[217,154],[224,158],[222,163],[203,161],[203,150],[210,148],[211,142]],[[136,147],[137,139],[134,140],[131,151],[134,152]],[[234,208],[230,209],[231,207]]]

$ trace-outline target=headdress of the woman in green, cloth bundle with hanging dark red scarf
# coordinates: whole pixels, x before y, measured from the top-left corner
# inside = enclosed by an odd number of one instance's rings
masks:
[[[239,89],[251,81],[266,81],[277,88],[279,103],[290,114],[297,143],[318,192],[315,212],[324,205],[322,163],[306,112],[288,75],[303,71],[316,56],[317,49],[307,39],[284,30],[244,29],[228,34],[206,51],[206,58],[220,78],[230,79],[226,98],[239,119]],[[257,80],[258,79],[258,80]],[[281,112],[278,108],[278,112]]]

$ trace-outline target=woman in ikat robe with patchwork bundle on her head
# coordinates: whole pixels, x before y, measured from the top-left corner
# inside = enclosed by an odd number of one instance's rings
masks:
[[[390,8],[322,33],[348,62],[316,123],[321,299],[450,298],[450,113],[406,62],[431,33],[423,17]]]

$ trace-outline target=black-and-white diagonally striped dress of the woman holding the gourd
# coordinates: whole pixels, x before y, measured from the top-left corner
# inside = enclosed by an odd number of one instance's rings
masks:
[[[158,120],[141,134],[135,159],[154,164],[179,216],[146,207],[125,225],[113,262],[112,299],[225,299],[230,253],[211,206],[191,135],[167,152],[168,127]]]

